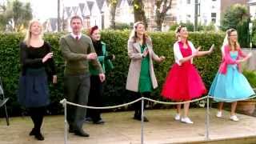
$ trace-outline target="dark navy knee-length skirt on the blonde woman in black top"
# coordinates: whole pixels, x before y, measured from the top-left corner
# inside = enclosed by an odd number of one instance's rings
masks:
[[[19,78],[18,102],[26,107],[49,105],[49,88],[45,68],[26,69],[26,74]]]

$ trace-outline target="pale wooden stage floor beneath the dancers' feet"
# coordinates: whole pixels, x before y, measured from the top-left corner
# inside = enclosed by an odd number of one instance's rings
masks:
[[[147,110],[150,122],[145,123],[145,144],[160,144],[205,139],[205,109],[191,109],[190,118],[193,125],[174,121],[175,110]],[[240,122],[231,122],[229,113],[224,118],[215,118],[216,110],[210,110],[210,138],[243,138],[256,137],[256,118],[238,114]],[[87,123],[84,130],[90,138],[77,137],[69,134],[70,144],[138,144],[141,138],[141,122],[132,119],[133,112],[105,113],[102,115],[106,124],[94,125]],[[0,119],[1,144],[61,144],[64,143],[64,117],[46,117],[43,124],[43,134],[46,140],[38,142],[30,137],[32,122],[29,117],[10,118],[10,126],[6,126],[5,119]],[[226,142],[228,143],[228,142]],[[256,143],[256,142],[255,142]]]

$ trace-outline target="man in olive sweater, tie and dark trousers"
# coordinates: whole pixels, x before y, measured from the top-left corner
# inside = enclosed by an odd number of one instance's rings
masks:
[[[64,70],[64,95],[68,102],[87,105],[90,91],[90,71],[88,62],[91,61],[98,76],[103,82],[105,74],[97,61],[97,54],[91,39],[82,34],[82,18],[74,16],[70,20],[71,34],[67,34],[60,40],[62,55],[65,58]],[[89,137],[82,130],[82,124],[86,116],[86,109],[77,106],[67,106],[67,121],[69,132],[82,137]]]

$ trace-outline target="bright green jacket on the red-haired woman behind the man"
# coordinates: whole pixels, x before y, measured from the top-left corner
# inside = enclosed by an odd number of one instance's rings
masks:
[[[105,57],[108,55],[106,51],[106,43],[102,42],[102,53],[103,55],[98,56],[98,62],[102,65],[103,73],[106,73],[106,70],[112,70],[114,68],[110,59],[105,60]],[[98,70],[92,66],[92,63],[89,63],[89,70],[91,75],[98,75]]]

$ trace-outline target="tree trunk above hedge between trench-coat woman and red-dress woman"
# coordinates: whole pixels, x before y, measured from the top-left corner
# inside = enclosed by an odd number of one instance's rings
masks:
[[[157,24],[157,30],[162,30],[162,22],[166,18],[166,13],[171,8],[172,0],[155,0],[156,10],[155,10],[155,22]]]

